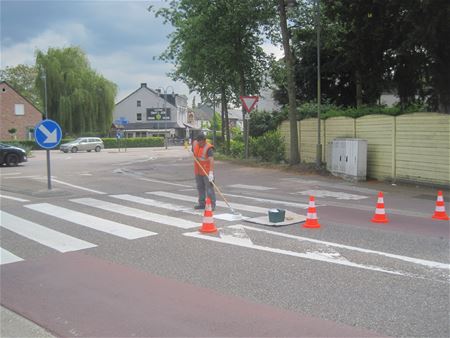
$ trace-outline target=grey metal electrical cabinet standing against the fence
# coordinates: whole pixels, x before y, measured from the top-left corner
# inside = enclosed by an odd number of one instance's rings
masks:
[[[335,139],[328,144],[328,149],[327,169],[333,175],[356,181],[366,180],[366,140],[354,138]]]

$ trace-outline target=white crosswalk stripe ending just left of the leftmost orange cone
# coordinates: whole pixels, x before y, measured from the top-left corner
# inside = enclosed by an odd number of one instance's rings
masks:
[[[155,214],[141,209],[130,208],[120,204],[105,202],[94,198],[77,198],[71,200],[72,202],[87,205],[94,208],[99,208],[111,212],[116,212],[126,216],[132,216],[147,221],[161,223],[166,225],[172,225],[178,228],[191,229],[200,227],[199,223],[184,220],[182,218],[176,218],[166,215]]]

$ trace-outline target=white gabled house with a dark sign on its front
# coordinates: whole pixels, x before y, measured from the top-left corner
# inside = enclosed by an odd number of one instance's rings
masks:
[[[166,135],[184,138],[187,123],[187,97],[178,94],[161,93],[141,83],[141,87],[116,103],[113,120],[128,123],[113,124],[120,128],[125,137],[146,137]]]

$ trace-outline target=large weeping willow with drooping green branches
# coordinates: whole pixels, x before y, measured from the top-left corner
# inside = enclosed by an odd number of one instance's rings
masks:
[[[79,47],[38,51],[36,86],[45,97],[43,72],[47,81],[48,117],[58,122],[63,133],[106,134],[111,126],[117,86],[91,69]]]

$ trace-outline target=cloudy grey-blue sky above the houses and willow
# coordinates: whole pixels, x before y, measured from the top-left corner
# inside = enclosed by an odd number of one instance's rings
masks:
[[[131,0],[0,0],[1,68],[34,64],[35,51],[80,46],[91,67],[118,86],[116,102],[146,82],[150,88],[172,86],[194,94],[167,77],[172,65],[158,60],[173,30],[147,11],[163,1]],[[280,55],[278,48],[264,46]],[[167,92],[171,92],[168,88]],[[196,102],[200,98],[196,98]]]

